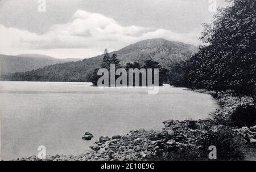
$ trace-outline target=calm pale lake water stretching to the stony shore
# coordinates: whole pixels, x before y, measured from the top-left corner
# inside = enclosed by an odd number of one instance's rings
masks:
[[[208,94],[184,88],[100,89],[90,83],[0,81],[1,158],[79,154],[98,137],[160,129],[167,119],[203,119],[217,108]],[[82,140],[91,132],[91,141]]]

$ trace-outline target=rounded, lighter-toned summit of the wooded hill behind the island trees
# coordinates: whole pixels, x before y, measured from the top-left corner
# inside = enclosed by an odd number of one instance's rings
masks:
[[[167,41],[162,38],[139,41],[118,51],[113,51],[110,55],[117,54],[121,65],[129,62],[144,62],[147,59],[159,62],[163,67],[167,67],[172,62],[185,61],[198,51],[196,46],[184,44],[182,42]],[[98,55],[94,58],[103,58]],[[86,59],[84,59],[86,60]]]

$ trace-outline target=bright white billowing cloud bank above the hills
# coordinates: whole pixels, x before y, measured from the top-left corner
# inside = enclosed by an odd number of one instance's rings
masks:
[[[71,22],[55,24],[42,35],[16,28],[6,28],[1,24],[0,33],[0,53],[20,54],[26,50],[36,53],[45,50],[47,55],[59,56],[57,51],[63,49],[72,51],[74,54],[68,56],[72,55],[74,58],[101,54],[106,47],[109,50],[118,50],[148,38],[166,38],[188,44],[200,44],[199,30],[191,33],[175,33],[166,29],[144,28],[136,25],[124,27],[112,18],[83,10],[77,10]],[[90,53],[82,56],[79,50]]]

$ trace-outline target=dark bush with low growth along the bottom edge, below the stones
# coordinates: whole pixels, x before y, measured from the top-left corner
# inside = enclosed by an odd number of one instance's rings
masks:
[[[211,145],[217,148],[217,160],[243,160],[243,143],[240,137],[228,127],[217,128],[203,134],[196,146],[158,149],[155,155],[148,157],[148,160],[206,161],[209,160],[208,148]]]

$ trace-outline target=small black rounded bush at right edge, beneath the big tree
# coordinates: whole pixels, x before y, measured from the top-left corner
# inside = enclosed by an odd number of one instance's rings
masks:
[[[241,105],[231,115],[231,121],[238,127],[256,125],[256,105]]]

